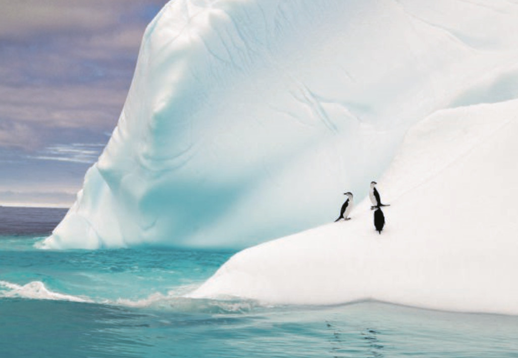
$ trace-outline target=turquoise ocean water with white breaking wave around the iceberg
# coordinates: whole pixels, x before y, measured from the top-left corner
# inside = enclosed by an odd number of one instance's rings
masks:
[[[35,246],[65,214],[0,207],[0,357],[518,357],[518,317],[182,295],[233,252]]]

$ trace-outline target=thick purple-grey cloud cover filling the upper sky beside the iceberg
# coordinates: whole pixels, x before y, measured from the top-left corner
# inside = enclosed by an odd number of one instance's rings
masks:
[[[22,128],[36,125],[111,132],[144,28],[165,2],[0,0],[3,136],[16,134],[26,147]]]

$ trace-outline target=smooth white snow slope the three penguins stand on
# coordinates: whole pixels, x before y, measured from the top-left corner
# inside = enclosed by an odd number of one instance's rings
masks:
[[[518,314],[516,133],[516,100],[430,116],[379,180],[381,235],[367,198],[348,222],[239,252],[191,296]]]

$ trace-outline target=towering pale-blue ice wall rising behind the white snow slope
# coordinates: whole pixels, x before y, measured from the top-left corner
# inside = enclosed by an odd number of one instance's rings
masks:
[[[411,123],[516,97],[507,1],[176,0],[44,246],[247,247],[335,218]]]

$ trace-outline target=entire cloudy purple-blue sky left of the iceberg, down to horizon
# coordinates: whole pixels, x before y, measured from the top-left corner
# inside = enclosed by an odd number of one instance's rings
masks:
[[[0,0],[0,205],[68,207],[166,0]]]

